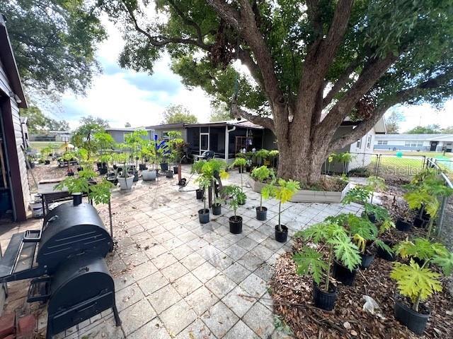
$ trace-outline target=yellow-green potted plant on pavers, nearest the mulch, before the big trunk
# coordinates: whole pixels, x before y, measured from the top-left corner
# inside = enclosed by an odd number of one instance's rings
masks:
[[[275,240],[277,242],[286,242],[288,237],[288,227],[282,225],[282,203],[291,200],[292,196],[300,189],[299,182],[292,179],[278,179],[277,186],[269,188],[271,196],[278,200],[278,225],[275,226]]]

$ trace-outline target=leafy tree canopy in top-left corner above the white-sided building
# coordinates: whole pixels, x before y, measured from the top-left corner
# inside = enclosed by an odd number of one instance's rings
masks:
[[[47,94],[84,93],[105,39],[99,9],[84,0],[0,0],[22,81]]]

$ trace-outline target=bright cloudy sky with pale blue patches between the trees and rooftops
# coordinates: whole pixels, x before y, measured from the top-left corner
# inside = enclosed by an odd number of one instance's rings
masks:
[[[123,41],[113,23],[103,20],[108,40],[97,54],[102,73],[93,78],[86,96],[64,93],[61,104],[45,109],[55,119],[65,119],[72,129],[79,119],[88,115],[107,119],[111,127],[148,126],[161,123],[162,112],[168,105],[184,105],[199,122],[209,121],[210,97],[200,88],[188,90],[180,76],[170,69],[170,58],[164,56],[154,66],[154,73],[121,69],[117,63]],[[440,111],[430,105],[399,107],[405,118],[400,122],[400,133],[415,126],[440,124],[453,125],[453,100]]]

